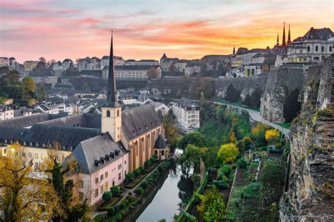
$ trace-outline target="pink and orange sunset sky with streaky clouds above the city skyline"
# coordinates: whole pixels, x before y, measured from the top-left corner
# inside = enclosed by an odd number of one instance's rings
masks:
[[[292,39],[310,27],[334,30],[333,0],[0,0],[0,56],[24,60],[202,58]]]

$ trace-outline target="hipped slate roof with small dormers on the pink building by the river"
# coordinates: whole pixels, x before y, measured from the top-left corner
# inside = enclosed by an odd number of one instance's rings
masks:
[[[116,150],[120,152],[119,155],[114,155],[115,159],[111,158],[110,161],[106,159],[105,164],[100,163],[99,166],[95,165],[95,160],[101,160],[101,157],[105,158],[106,155],[110,155],[111,152],[115,153]],[[74,157],[78,160],[80,172],[83,174],[92,174],[94,171],[116,161],[116,159],[120,159],[126,153],[127,150],[125,150],[122,143],[115,143],[109,133],[104,133],[81,141],[68,158]]]

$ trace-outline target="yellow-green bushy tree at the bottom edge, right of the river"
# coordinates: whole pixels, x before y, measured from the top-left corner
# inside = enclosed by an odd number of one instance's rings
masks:
[[[225,215],[225,204],[221,193],[216,187],[206,190],[200,197],[197,207],[204,221],[222,221]]]

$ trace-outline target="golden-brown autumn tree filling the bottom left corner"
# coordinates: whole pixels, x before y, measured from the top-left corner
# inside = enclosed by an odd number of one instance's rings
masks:
[[[47,221],[62,214],[52,185],[34,178],[27,150],[13,143],[7,151],[0,157],[0,221]]]

